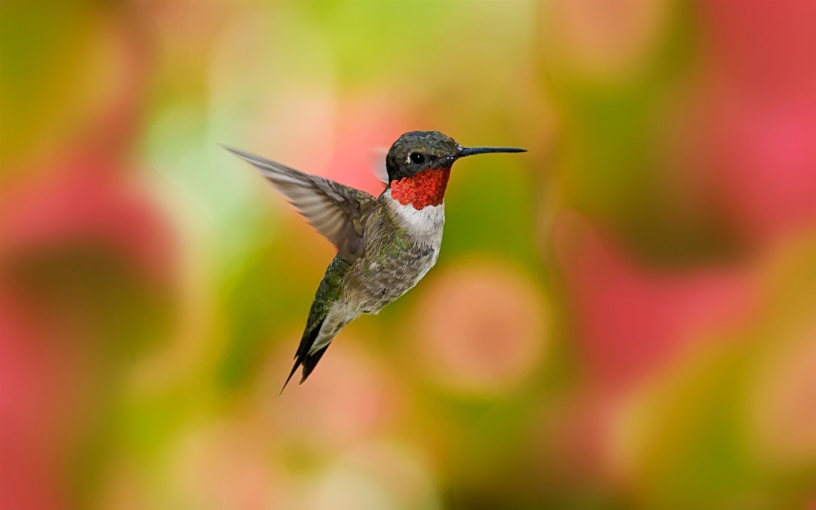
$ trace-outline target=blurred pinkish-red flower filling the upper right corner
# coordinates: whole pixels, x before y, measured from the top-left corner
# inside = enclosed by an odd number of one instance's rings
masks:
[[[767,242],[816,226],[816,2],[705,2],[707,132],[721,193]]]

